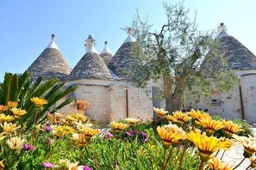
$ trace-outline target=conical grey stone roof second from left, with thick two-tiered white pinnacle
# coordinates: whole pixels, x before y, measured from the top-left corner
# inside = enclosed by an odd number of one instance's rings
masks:
[[[86,53],[69,75],[69,80],[79,79],[113,79],[106,64],[95,49],[95,39],[86,39]]]

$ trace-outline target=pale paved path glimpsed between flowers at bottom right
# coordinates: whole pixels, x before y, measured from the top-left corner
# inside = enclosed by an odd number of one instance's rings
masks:
[[[256,137],[256,128],[253,128],[253,136]],[[222,153],[223,151],[221,151],[218,154],[218,156],[221,157]],[[230,148],[230,150],[225,152],[225,155],[222,158],[222,161],[228,162],[236,166],[244,158],[243,153],[244,153],[243,146],[240,143],[235,143],[234,146]],[[246,159],[245,161],[242,162],[242,164],[240,164],[240,167],[237,167],[236,169],[245,170],[250,164],[251,164],[251,161],[249,159]]]

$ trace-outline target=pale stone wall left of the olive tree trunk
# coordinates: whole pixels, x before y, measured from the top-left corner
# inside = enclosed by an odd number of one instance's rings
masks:
[[[78,80],[67,82],[66,86],[77,84],[78,89],[73,94],[77,100],[88,100],[91,105],[85,112],[79,111],[72,103],[59,112],[65,114],[78,112],[89,116],[98,123],[109,123],[124,118],[153,118],[153,102],[151,85],[137,88],[131,82]],[[154,82],[150,82],[156,86]]]

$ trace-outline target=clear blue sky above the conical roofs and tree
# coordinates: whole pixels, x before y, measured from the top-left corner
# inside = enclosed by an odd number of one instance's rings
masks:
[[[186,0],[184,6],[191,18],[197,10],[200,30],[224,22],[228,33],[256,54],[255,0]],[[5,71],[27,70],[51,42],[52,33],[72,68],[83,57],[89,34],[97,40],[98,52],[107,40],[115,53],[127,37],[120,27],[131,24],[136,8],[142,18],[148,15],[154,29],[165,23],[160,0],[0,0],[0,82]]]

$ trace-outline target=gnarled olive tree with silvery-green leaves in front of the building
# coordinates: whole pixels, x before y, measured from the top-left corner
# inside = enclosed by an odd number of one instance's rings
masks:
[[[162,80],[166,110],[182,106],[184,92],[209,94],[214,89],[228,91],[238,82],[227,58],[219,51],[215,31],[202,32],[195,20],[188,17],[183,3],[163,3],[166,23],[159,31],[134,15],[132,29],[137,39],[134,56],[140,62],[129,76],[143,87],[150,79]],[[123,29],[127,29],[123,28]]]

